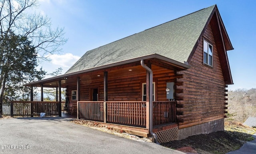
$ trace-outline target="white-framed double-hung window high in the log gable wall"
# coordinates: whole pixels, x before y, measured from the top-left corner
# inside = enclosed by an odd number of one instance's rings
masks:
[[[210,66],[212,66],[212,53],[212,45],[204,40],[204,63]]]

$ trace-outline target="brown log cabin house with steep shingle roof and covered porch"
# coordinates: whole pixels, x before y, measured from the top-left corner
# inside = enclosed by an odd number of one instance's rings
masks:
[[[180,140],[224,130],[232,49],[214,5],[87,51],[64,75],[25,86],[55,87],[59,100],[66,88],[78,119]]]

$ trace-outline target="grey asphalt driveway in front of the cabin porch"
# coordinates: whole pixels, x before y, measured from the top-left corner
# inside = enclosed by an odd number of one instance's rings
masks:
[[[70,120],[61,117],[0,119],[0,153],[182,154],[155,143],[121,138]]]

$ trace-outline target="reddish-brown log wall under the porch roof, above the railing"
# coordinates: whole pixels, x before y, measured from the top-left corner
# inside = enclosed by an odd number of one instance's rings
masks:
[[[160,68],[160,67],[157,67]],[[111,72],[108,73],[109,76]],[[153,81],[155,82],[156,101],[166,101],[166,82],[174,82],[176,76],[174,71],[160,68],[153,70]],[[146,83],[146,70],[135,75],[108,78],[108,101],[142,101],[142,83]],[[90,100],[90,89],[98,88],[99,101],[104,101],[103,78],[97,80],[81,79],[80,101]],[[76,90],[76,85],[68,85],[68,96],[71,100],[71,91]],[[73,101],[76,102],[76,101]]]

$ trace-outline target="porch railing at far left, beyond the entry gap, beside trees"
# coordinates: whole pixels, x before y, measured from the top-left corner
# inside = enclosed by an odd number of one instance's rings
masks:
[[[33,116],[45,113],[46,115],[59,115],[59,102],[47,101],[12,101],[11,116]]]

